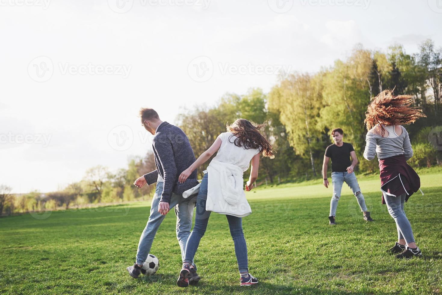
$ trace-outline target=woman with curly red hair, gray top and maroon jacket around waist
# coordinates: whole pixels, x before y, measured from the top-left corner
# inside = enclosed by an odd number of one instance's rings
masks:
[[[379,159],[382,203],[396,222],[398,235],[398,241],[388,252],[396,253],[396,258],[422,255],[404,211],[404,202],[420,190],[420,179],[407,164],[413,149],[401,124],[408,125],[425,117],[422,110],[411,104],[412,96],[394,96],[391,90],[385,90],[371,100],[364,120],[368,130],[364,158],[370,161],[377,154]]]

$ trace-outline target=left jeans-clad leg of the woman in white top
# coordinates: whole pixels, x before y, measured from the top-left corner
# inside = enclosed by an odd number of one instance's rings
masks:
[[[192,264],[196,250],[198,249],[199,241],[206,232],[207,222],[209,221],[211,213],[210,211],[206,211],[207,177],[207,174],[205,174],[199,188],[196,201],[195,225],[189,238],[187,239],[183,265]]]

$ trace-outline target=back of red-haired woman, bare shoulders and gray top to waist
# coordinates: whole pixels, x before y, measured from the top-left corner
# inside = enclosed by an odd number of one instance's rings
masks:
[[[384,127],[384,134],[382,134],[382,127]],[[408,160],[413,156],[410,138],[404,126],[377,124],[368,131],[366,142],[364,158],[367,160],[373,160],[375,154],[377,154],[378,159],[405,155]]]

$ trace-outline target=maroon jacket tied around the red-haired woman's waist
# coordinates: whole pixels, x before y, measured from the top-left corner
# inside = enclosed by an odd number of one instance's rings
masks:
[[[406,193],[405,201],[408,201],[408,198],[420,188],[419,175],[407,164],[404,155],[379,159],[379,170],[382,192],[395,196]],[[385,204],[384,195],[382,195],[382,204]]]

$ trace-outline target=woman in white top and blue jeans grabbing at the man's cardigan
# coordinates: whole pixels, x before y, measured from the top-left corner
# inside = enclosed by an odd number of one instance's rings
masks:
[[[235,209],[243,207],[243,205],[248,206],[242,185],[243,172],[248,170],[250,161],[251,172],[245,186],[246,191],[252,189],[253,183],[258,177],[259,153],[262,152],[264,157],[274,158],[271,144],[259,133],[259,129],[263,126],[264,124],[255,125],[246,119],[237,119],[232,125],[226,126],[228,132],[221,133],[213,145],[179,176],[179,182],[183,183],[192,171],[218,151],[217,156],[210,162],[208,172],[205,171],[199,188],[195,225],[187,240],[183,268],[177,281],[179,287],[187,287],[189,279],[192,278],[194,273],[194,270],[191,269],[192,261],[198,249],[199,241],[206,232],[211,211],[225,214],[229,222],[230,234],[235,244],[236,260],[240,271],[240,285],[250,286],[258,283],[258,280],[248,273],[247,245],[240,217],[248,215],[250,212],[243,214],[244,211],[235,211]],[[209,173],[210,181],[208,180]],[[209,194],[208,188],[210,188]],[[208,195],[212,199],[209,199]],[[218,206],[220,210],[213,210],[213,205],[217,207],[219,203],[223,204]],[[208,207],[210,211],[206,210]],[[222,208],[228,207],[233,208],[234,215],[225,212],[229,210],[222,210]],[[192,278],[190,283],[197,282],[198,279]]]

